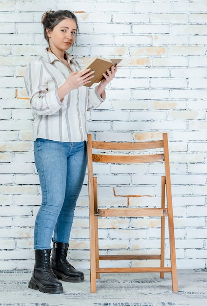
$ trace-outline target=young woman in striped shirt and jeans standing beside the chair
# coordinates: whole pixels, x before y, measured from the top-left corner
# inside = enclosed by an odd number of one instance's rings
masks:
[[[42,15],[48,43],[24,74],[34,115],[35,165],[40,177],[42,204],[35,221],[35,265],[29,288],[62,293],[62,283],[83,282],[83,272],[66,260],[77,198],[86,169],[86,111],[105,99],[104,88],[114,78],[117,66],[104,74],[95,88],[93,71],[80,72],[65,50],[76,38],[78,23],[70,11]],[[53,236],[52,258],[51,239]]]

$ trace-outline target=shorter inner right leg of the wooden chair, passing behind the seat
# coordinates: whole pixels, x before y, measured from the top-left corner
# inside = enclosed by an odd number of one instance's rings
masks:
[[[162,176],[161,180],[161,207],[164,209],[165,204],[165,188],[166,188],[166,177]],[[165,216],[161,217],[161,258],[160,258],[160,267],[164,268],[165,266]],[[160,278],[164,278],[165,273],[160,272]]]

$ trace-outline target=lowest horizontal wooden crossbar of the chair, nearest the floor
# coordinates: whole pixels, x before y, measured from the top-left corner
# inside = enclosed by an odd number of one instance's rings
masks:
[[[166,268],[154,268],[154,267],[148,267],[148,268],[99,268],[97,269],[98,273],[143,273],[143,272],[172,272],[171,267]]]

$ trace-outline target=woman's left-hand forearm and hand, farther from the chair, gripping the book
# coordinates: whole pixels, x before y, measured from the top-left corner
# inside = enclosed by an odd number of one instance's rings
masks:
[[[73,89],[77,89],[87,83],[94,77],[94,71],[90,71],[89,69],[85,69],[83,71],[75,71],[69,74],[65,83],[58,88],[58,95],[62,102],[64,96]]]

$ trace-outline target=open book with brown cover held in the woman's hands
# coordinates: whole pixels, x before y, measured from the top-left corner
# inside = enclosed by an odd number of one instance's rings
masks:
[[[122,59],[106,59],[101,56],[94,56],[92,60],[81,69],[81,71],[87,68],[91,68],[90,71],[95,70],[91,82],[84,86],[91,87],[94,83],[99,83],[104,78],[103,73],[106,73],[107,69],[112,65],[115,66],[116,64],[119,64],[121,61]]]

